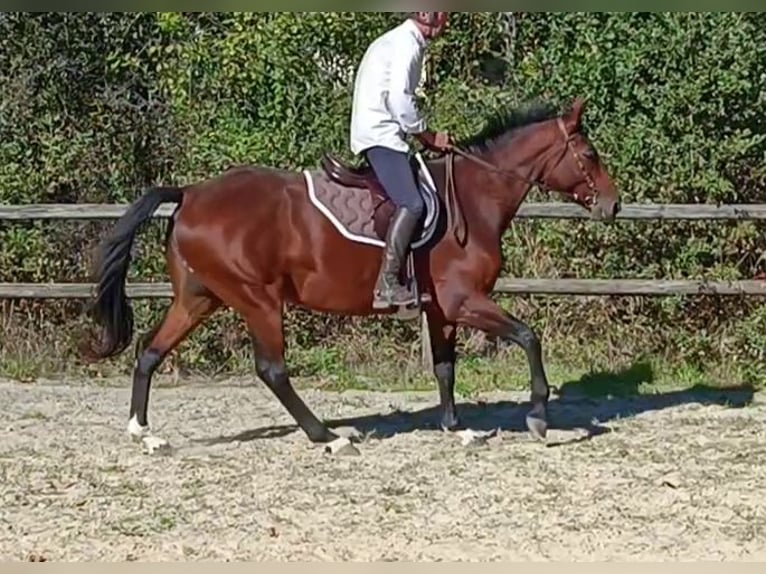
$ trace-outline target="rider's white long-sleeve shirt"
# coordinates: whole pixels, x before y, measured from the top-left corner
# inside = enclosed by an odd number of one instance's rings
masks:
[[[362,58],[354,80],[351,151],[373,146],[408,152],[406,134],[425,131],[415,103],[427,41],[407,19],[378,37]]]

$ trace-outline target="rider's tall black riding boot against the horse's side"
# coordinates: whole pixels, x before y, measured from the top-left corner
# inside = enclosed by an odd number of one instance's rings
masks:
[[[405,264],[417,223],[418,218],[404,207],[398,208],[391,218],[383,250],[383,264],[375,285],[373,308],[386,309],[418,302],[415,293],[399,282],[399,271]]]

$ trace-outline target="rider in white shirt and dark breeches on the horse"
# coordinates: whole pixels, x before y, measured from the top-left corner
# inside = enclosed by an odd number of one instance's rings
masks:
[[[451,145],[449,135],[426,127],[415,103],[426,47],[444,31],[447,18],[447,12],[411,12],[367,48],[356,73],[351,151],[364,155],[396,205],[375,286],[374,308],[417,303],[399,282],[399,270],[425,208],[404,138],[410,134],[436,151],[446,151]]]

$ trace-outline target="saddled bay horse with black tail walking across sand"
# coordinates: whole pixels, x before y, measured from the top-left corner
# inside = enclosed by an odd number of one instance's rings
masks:
[[[454,151],[420,159],[422,193],[431,200],[425,217],[432,221],[423,223],[420,241],[412,244],[410,270],[428,296],[422,310],[444,430],[460,426],[455,340],[458,326],[467,326],[525,351],[531,375],[527,428],[536,439],[546,436],[550,389],[540,339],[490,294],[501,271],[502,236],[533,185],[558,191],[593,219],[617,215],[616,187],[581,129],[583,110],[579,98],[561,115],[548,104],[517,108],[490,120]],[[228,306],[245,321],[258,378],[308,439],[338,439],[290,382],[283,307],[345,316],[400,311],[372,308],[393,205],[370,168],[325,155],[322,170],[245,166],[185,187],[145,191],[99,246],[90,311],[97,330],[82,347],[91,360],[114,357],[130,345],[133,312],[125,282],[131,247],[139,227],[163,203],[177,205],[164,246],[174,296],[164,318],[135,345],[129,434],[144,441],[153,436],[147,417],[153,373],[197,326]]]

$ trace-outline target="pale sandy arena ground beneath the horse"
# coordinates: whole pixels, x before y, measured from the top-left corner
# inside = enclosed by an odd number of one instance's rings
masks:
[[[156,388],[174,449],[154,456],[127,438],[127,381],[0,393],[6,560],[766,560],[766,401],[746,391],[564,397],[547,446],[525,395],[487,395],[464,421],[502,430],[468,447],[435,430],[435,392],[303,391],[376,430],[360,456],[312,446],[251,381]]]

